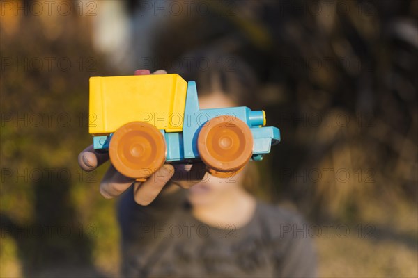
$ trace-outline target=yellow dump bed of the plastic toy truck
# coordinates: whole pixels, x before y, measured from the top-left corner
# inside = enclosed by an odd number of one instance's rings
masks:
[[[91,77],[88,132],[114,133],[134,121],[180,132],[186,94],[187,82],[178,74]]]

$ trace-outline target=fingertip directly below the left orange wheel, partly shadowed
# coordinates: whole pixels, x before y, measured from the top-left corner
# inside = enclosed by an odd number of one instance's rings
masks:
[[[114,165],[110,165],[100,183],[100,194],[106,199],[111,199],[121,195],[134,181],[135,179],[125,177],[115,169]]]

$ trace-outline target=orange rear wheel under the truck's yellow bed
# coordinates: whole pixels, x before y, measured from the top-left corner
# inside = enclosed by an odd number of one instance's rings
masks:
[[[144,181],[164,164],[164,136],[152,124],[130,122],[111,137],[109,156],[118,172]]]

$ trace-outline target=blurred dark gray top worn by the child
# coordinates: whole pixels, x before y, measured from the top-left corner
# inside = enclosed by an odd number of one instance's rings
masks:
[[[245,227],[196,220],[184,190],[149,206],[132,188],[118,205],[127,277],[316,277],[316,254],[299,215],[258,202]]]

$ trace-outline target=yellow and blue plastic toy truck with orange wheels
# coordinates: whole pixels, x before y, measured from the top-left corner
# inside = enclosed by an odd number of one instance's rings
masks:
[[[109,152],[127,177],[144,181],[164,163],[203,161],[210,174],[231,177],[261,161],[280,141],[264,111],[200,109],[196,83],[178,74],[91,77],[93,147]]]

